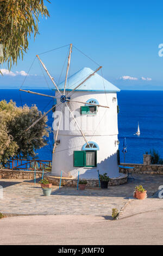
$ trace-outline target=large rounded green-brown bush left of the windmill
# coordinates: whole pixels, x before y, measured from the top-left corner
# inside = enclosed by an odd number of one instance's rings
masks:
[[[42,116],[35,105],[16,107],[12,100],[0,102],[0,162],[2,166],[12,158],[36,157],[35,150],[47,145],[50,127],[47,117],[26,129]]]

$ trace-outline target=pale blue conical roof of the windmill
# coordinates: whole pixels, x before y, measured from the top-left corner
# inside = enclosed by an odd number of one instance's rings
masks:
[[[87,76],[92,74],[93,70],[90,68],[83,68],[79,70],[77,73],[70,76],[69,80],[67,80],[66,90],[73,90],[85,80]],[[64,89],[65,81],[59,84],[59,89]],[[91,76],[86,82],[79,86],[78,91],[90,91],[90,92],[120,92],[116,86],[114,86],[109,81],[105,80],[102,76],[95,73],[95,75]]]

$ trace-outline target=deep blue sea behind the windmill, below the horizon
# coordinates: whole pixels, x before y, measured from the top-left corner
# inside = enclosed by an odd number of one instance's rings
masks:
[[[37,92],[54,95],[50,89]],[[123,162],[123,139],[127,140],[126,162],[142,163],[143,154],[150,149],[158,150],[163,158],[163,91],[122,90],[117,93],[120,113],[118,114],[118,139],[120,141],[121,162]],[[41,111],[48,111],[53,99],[19,92],[16,89],[1,89],[0,100],[12,99],[17,106],[34,103]],[[52,112],[48,114],[48,126],[52,126]],[[137,123],[140,136],[134,135]],[[50,133],[48,145],[37,151],[39,159],[52,160],[53,135]]]

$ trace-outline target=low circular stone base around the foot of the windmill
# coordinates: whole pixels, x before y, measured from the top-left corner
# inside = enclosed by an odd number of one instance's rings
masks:
[[[46,174],[46,178],[53,185],[59,186],[59,184],[60,184],[59,176],[52,176],[52,175]],[[110,179],[109,186],[122,185],[124,183],[127,183],[127,179],[128,179],[127,174],[121,174],[121,176],[118,178]],[[99,187],[98,179],[86,179],[86,181],[87,181],[86,187]],[[62,177],[62,179],[61,179],[61,186],[77,187],[77,185],[78,185],[78,179],[66,178],[66,177]]]

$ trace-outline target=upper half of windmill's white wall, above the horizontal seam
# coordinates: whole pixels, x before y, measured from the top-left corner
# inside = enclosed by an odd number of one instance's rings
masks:
[[[98,107],[97,115],[80,115],[80,106],[84,104],[76,102],[68,102],[71,110],[76,115],[76,120],[82,126],[82,131],[85,135],[117,135],[118,125],[117,125],[117,101],[113,102],[113,97],[116,97],[116,93],[104,93],[104,92],[75,92],[71,96],[72,100],[86,102],[89,99],[97,99],[100,105],[109,106],[109,108]],[[60,101],[58,100],[58,103]],[[56,107],[56,113],[54,117],[57,117],[55,123],[59,119],[58,112],[61,110],[61,105]],[[74,120],[71,117],[68,109],[64,109],[64,123],[61,123],[60,135],[80,135],[79,129],[74,130]],[[92,127],[92,123],[94,123]],[[67,127],[70,124],[70,129]],[[63,128],[63,129],[62,129]],[[54,127],[57,130],[57,127]]]

